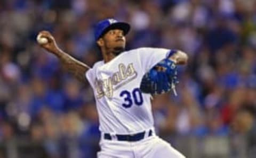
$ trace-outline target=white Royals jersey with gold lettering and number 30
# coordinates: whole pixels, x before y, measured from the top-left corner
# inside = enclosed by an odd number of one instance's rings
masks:
[[[139,48],[100,61],[86,72],[96,100],[100,131],[134,134],[154,127],[150,94],[141,93],[143,75],[167,57],[168,49]]]

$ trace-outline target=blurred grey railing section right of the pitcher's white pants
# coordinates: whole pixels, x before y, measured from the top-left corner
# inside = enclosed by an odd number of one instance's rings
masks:
[[[242,136],[178,136],[164,139],[189,158],[248,158]]]

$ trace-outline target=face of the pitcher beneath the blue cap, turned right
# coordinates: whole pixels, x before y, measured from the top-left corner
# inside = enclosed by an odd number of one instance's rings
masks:
[[[102,41],[102,47],[105,47],[108,50],[113,49],[117,54],[124,51],[125,37],[123,30],[109,30],[100,40]]]

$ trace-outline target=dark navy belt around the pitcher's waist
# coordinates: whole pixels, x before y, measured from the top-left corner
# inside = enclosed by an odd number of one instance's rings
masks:
[[[129,142],[135,142],[140,141],[145,137],[146,131],[143,131],[141,133],[137,133],[134,135],[116,135],[116,138],[118,141],[129,141]],[[148,136],[152,136],[152,130],[149,130]],[[104,139],[111,140],[111,135],[109,133],[104,134]]]

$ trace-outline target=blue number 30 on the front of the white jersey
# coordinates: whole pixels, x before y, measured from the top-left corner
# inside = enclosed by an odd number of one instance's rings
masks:
[[[141,106],[143,104],[143,97],[139,88],[135,88],[132,92],[129,91],[122,91],[120,96],[124,98],[124,103],[122,106],[124,108],[130,108],[133,104],[137,106]]]

